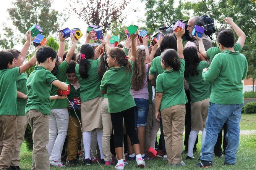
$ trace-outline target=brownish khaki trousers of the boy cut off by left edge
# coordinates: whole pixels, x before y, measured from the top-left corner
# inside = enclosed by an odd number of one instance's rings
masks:
[[[0,170],[9,168],[17,140],[17,115],[0,115]]]

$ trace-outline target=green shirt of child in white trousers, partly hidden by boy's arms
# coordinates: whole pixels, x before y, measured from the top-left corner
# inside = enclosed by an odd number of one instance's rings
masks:
[[[58,73],[55,75],[55,77],[61,81],[61,82],[66,82],[66,70],[68,69],[68,63],[66,61],[63,61],[59,66],[58,66]],[[50,96],[55,96],[57,95],[57,87],[52,86]],[[68,100],[67,99],[55,99],[51,100],[51,109],[63,109],[68,107]]]

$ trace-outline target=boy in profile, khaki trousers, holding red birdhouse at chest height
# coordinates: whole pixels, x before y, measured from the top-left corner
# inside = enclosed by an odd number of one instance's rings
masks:
[[[46,145],[49,141],[50,99],[64,99],[66,96],[50,96],[52,84],[68,90],[66,83],[60,82],[50,72],[55,66],[57,52],[50,47],[42,47],[36,52],[38,66],[29,75],[28,103],[25,107],[26,118],[32,129],[33,164],[32,169],[49,169],[49,155]]]

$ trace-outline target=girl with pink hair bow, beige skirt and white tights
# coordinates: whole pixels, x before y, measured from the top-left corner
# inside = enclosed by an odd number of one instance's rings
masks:
[[[76,76],[80,85],[81,118],[84,144],[84,165],[91,165],[90,146],[92,130],[97,132],[100,149],[100,163],[104,164],[102,152],[102,119],[100,114],[103,95],[100,93],[98,68],[100,58],[94,60],[94,47],[83,44],[80,50],[79,64],[76,65]]]

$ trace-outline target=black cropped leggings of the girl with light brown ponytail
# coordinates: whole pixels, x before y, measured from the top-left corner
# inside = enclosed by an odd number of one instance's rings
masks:
[[[130,137],[131,145],[139,143],[134,127],[134,108],[131,107],[122,112],[111,113],[111,122],[114,129],[115,148],[123,147],[123,119],[127,135]]]

